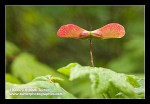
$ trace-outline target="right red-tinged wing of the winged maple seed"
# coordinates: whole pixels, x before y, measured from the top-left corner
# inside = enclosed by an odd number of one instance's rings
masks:
[[[121,38],[125,35],[125,29],[120,24],[110,23],[97,30],[92,31],[91,33],[92,36],[101,39]]]

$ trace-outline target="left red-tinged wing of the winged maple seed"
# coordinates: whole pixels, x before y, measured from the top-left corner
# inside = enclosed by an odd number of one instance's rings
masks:
[[[57,31],[57,35],[61,38],[86,38],[90,35],[89,31],[76,26],[74,24],[63,25]]]

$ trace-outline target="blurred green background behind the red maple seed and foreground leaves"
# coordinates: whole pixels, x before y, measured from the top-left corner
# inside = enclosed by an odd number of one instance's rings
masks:
[[[57,36],[69,23],[86,30],[123,25],[123,38],[93,39],[95,66],[144,75],[144,6],[6,6],[6,81],[61,76],[56,70],[72,62],[91,66],[88,39]]]

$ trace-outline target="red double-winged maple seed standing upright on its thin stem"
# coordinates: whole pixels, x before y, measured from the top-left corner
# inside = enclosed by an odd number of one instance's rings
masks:
[[[91,64],[94,67],[92,55],[92,37],[99,39],[122,38],[125,35],[125,29],[118,23],[110,23],[93,31],[87,31],[74,24],[67,24],[59,28],[57,35],[61,38],[89,38]]]

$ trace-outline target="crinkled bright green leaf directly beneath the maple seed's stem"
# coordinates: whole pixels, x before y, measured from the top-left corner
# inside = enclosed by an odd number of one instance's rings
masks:
[[[73,67],[74,66],[74,67]],[[68,73],[68,71],[70,73]],[[61,73],[67,73],[70,80],[89,78],[91,82],[92,95],[100,98],[143,98],[139,97],[136,89],[142,89],[138,77],[116,73],[110,69],[102,67],[81,66],[71,63],[66,67],[58,69]],[[144,94],[144,91],[141,92]]]

